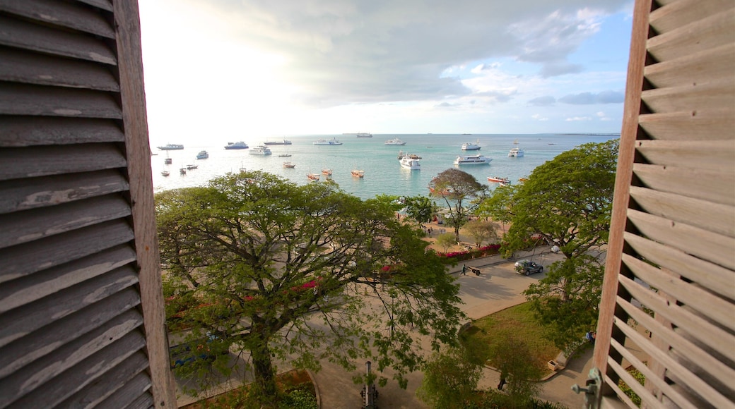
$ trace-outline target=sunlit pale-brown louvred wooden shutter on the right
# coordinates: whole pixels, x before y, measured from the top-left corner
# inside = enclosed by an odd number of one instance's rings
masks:
[[[642,407],[735,406],[734,270],[735,2],[637,0],[595,345],[603,407],[633,405],[619,380]]]

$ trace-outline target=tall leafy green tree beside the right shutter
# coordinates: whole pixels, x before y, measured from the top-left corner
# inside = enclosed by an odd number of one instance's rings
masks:
[[[608,240],[617,150],[610,140],[563,152],[484,207],[510,218],[501,251],[527,248],[535,237],[564,254],[524,292],[542,321],[553,324],[551,339],[562,349],[597,320],[603,268],[596,256]]]

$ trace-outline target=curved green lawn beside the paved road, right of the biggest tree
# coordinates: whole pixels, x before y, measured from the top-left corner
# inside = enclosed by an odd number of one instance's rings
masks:
[[[556,359],[559,348],[543,337],[542,328],[534,319],[529,303],[513,306],[476,320],[460,334],[459,339],[478,363],[490,364],[491,350],[499,339],[512,336],[526,342],[534,365],[543,373],[550,372],[546,363]]]

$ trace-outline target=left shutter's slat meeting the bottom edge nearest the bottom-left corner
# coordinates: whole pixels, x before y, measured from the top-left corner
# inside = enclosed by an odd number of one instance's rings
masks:
[[[123,339],[64,372],[63,376],[49,380],[32,394],[25,394],[13,402],[13,405],[18,408],[53,408],[60,405],[65,399],[96,382],[105,372],[124,361],[145,360],[146,355],[140,352],[145,344],[143,334],[138,331],[130,332]]]

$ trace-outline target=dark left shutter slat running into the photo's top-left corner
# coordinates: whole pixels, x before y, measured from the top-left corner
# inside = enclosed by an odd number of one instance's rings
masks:
[[[51,0],[0,0],[0,11],[102,37],[115,38],[115,31],[110,23],[96,10],[83,7],[81,4]]]

